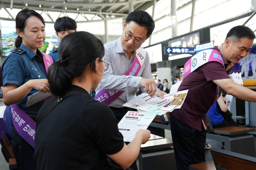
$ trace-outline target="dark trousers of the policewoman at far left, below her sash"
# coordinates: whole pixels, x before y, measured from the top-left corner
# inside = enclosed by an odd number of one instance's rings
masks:
[[[32,118],[34,121],[35,118]],[[35,149],[18,134],[12,123],[12,149],[19,170],[36,170],[34,167]]]

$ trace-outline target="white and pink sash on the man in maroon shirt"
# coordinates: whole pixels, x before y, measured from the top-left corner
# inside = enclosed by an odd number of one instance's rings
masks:
[[[221,53],[215,49],[206,49],[204,51],[197,53],[185,63],[183,79],[187,75],[195,71],[198,67],[210,61],[217,61],[221,63],[223,65],[223,69],[225,70],[224,61],[222,59]],[[217,85],[214,103],[215,101],[218,100],[219,97],[220,97],[220,87]]]

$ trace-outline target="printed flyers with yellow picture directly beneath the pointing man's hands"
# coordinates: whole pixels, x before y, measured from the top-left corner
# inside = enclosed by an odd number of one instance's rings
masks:
[[[153,107],[160,107],[161,111],[172,111],[173,109],[180,109],[186,98],[188,90],[178,91],[164,95],[164,99],[154,96],[151,98],[148,93],[142,93],[134,99],[128,101],[123,106],[131,107],[134,109],[140,109],[143,111],[149,111]]]

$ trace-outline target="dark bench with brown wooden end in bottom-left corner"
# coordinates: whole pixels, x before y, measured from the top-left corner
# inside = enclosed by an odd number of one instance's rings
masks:
[[[0,143],[2,145],[2,153],[4,155],[4,158],[5,158],[6,162],[9,163],[9,169],[10,170],[17,169],[18,166],[16,163],[14,152],[12,150],[12,145],[11,145],[11,142],[8,139],[6,133],[4,133],[4,135],[2,136]]]

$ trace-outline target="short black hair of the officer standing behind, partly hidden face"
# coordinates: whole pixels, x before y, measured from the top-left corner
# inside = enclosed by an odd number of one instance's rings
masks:
[[[54,23],[54,29],[56,32],[76,30],[76,21],[67,16],[58,18]]]

